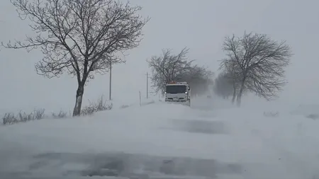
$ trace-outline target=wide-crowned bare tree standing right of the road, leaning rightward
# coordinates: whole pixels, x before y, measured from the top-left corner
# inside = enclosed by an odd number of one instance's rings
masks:
[[[246,88],[272,100],[286,84],[284,69],[292,54],[285,41],[276,42],[264,34],[245,33],[242,37],[225,37],[223,50],[228,58],[220,66],[233,64],[234,71],[240,72],[237,76],[240,78],[237,105],[240,105]]]

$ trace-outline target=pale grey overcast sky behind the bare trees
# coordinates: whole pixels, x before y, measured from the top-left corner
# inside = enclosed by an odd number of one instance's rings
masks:
[[[160,54],[162,48],[179,52],[189,47],[189,57],[217,71],[224,57],[221,45],[225,35],[242,35],[245,30],[266,33],[275,40],[287,40],[294,56],[286,76],[289,84],[282,99],[319,100],[319,1],[300,0],[132,0],[143,6],[142,14],[151,21],[144,28],[140,47],[129,52],[127,63],[113,68],[113,98],[138,100],[145,96],[145,60]],[[0,1],[0,41],[23,40],[33,35],[28,21],[21,21],[9,0]],[[45,79],[38,76],[34,63],[39,50],[0,51],[0,109],[72,109],[77,83],[69,76]],[[108,75],[96,76],[84,91],[84,103],[101,94],[108,96]]]

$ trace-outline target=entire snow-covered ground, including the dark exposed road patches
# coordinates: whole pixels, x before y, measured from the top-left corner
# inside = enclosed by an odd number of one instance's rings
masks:
[[[319,178],[316,111],[198,98],[0,127],[0,178]]]

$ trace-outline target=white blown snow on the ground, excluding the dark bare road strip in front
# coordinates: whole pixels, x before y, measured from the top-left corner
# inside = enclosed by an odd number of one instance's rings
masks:
[[[115,108],[93,117],[0,127],[0,173],[33,171],[38,154],[116,151],[239,163],[242,171],[236,178],[313,179],[319,174],[317,120],[280,109],[279,116],[265,117],[264,107],[220,106],[211,99],[193,100],[192,108],[157,102]],[[50,162],[39,163],[46,168],[33,174],[61,176],[70,168],[88,167],[77,162],[57,167],[57,161]]]

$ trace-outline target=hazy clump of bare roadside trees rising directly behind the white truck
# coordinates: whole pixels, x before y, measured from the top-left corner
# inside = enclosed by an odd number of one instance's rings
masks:
[[[186,81],[192,86],[194,93],[203,93],[212,83],[212,71],[205,67],[193,65],[189,60],[186,47],[179,54],[172,54],[171,50],[163,50],[162,56],[153,56],[147,60],[152,69],[152,82],[156,92],[164,93],[165,86],[171,81]],[[197,87],[197,88],[196,88]]]

